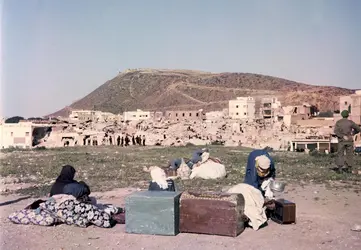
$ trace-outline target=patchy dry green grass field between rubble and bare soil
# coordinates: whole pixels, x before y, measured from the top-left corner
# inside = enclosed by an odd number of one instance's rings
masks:
[[[38,187],[18,192],[43,195],[49,190],[51,181],[60,172],[61,166],[73,165],[77,179],[90,184],[92,191],[106,191],[119,187],[148,185],[149,173],[144,166],[165,166],[168,160],[190,157],[195,147],[76,147],[47,150],[22,150],[4,152],[0,159],[0,175],[16,177],[21,182],[32,182]],[[220,158],[227,167],[228,176],[223,180],[177,180],[182,189],[220,191],[222,187],[243,181],[250,149],[210,146],[213,157]],[[277,177],[288,182],[332,184],[346,182],[348,187],[359,186],[360,175],[339,175],[329,171],[334,164],[333,156],[309,156],[303,153],[271,153],[276,162]],[[361,157],[356,157],[361,165]],[[358,185],[354,185],[358,184]],[[357,190],[359,191],[359,190]]]

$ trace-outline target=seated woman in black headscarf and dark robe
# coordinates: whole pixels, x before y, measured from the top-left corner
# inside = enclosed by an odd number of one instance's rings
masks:
[[[69,194],[77,199],[89,200],[90,188],[85,182],[74,180],[76,170],[70,165],[63,166],[60,175],[51,187],[50,196]]]

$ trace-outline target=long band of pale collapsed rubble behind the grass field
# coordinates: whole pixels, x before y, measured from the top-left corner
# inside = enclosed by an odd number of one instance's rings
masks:
[[[36,147],[66,147],[83,145],[117,145],[117,138],[128,136],[145,138],[147,146],[185,146],[222,144],[226,147],[270,147],[289,150],[290,141],[300,138],[328,138],[330,128],[286,126],[280,121],[265,119],[232,120],[223,116],[212,119],[169,120],[166,117],[133,121],[60,119],[43,137],[37,138]],[[40,133],[41,134],[41,133]]]

